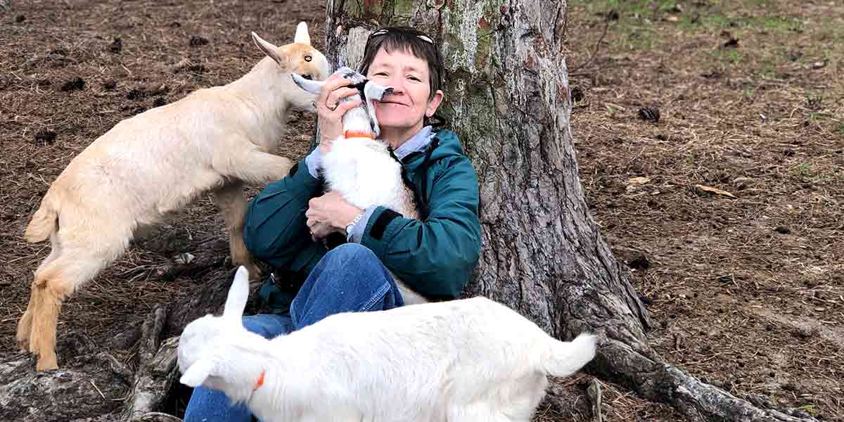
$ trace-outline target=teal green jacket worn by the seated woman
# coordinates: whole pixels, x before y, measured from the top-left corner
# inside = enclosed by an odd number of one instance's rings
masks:
[[[444,129],[425,150],[411,152],[402,162],[427,203],[427,218],[406,219],[377,207],[366,221],[360,244],[420,294],[457,298],[479,260],[478,176],[457,134]],[[249,204],[246,248],[281,273],[300,274],[287,292],[269,280],[264,283],[259,295],[273,311],[289,309],[295,290],[327,252],[322,242],[311,240],[305,224],[308,201],[322,190],[322,178],[311,176],[303,159]]]

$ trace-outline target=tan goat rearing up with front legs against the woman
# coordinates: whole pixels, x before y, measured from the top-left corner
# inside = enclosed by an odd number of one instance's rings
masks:
[[[287,175],[294,162],[271,152],[290,111],[315,111],[316,100],[289,74],[324,79],[328,64],[311,46],[304,22],[286,46],[254,32],[252,39],[268,57],[249,73],[117,123],[52,183],[26,228],[27,241],[50,238],[52,249],[35,271],[17,333],[19,347],[38,354],[39,371],[57,368],[62,301],[122,256],[139,228],[205,192],[213,192],[222,210],[232,261],[260,274],[243,242],[243,182]]]

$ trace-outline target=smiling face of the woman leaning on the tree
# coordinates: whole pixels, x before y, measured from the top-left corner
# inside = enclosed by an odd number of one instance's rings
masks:
[[[425,116],[434,115],[442,101],[442,91],[430,98],[429,73],[428,63],[409,51],[387,52],[381,47],[377,52],[366,77],[393,88],[392,94],[375,102],[378,125],[385,138],[391,134],[405,136],[398,139],[403,142],[419,132]]]

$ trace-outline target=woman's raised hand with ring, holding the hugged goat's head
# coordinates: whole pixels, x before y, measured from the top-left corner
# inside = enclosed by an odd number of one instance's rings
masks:
[[[334,73],[325,80],[322,90],[317,97],[317,116],[319,116],[319,149],[321,154],[327,154],[331,150],[331,144],[335,139],[343,135],[343,115],[346,111],[360,106],[360,99],[344,101],[341,98],[358,94],[354,88],[345,88],[351,84],[351,80],[344,78],[342,74]]]

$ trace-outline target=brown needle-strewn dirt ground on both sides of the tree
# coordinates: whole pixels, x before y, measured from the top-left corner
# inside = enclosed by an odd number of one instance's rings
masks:
[[[35,0],[0,14],[0,361],[21,356],[15,326],[49,252],[24,228],[73,156],[128,116],[246,73],[262,57],[250,30],[280,45],[305,20],[322,48],[323,2],[243,4]],[[576,0],[566,28],[587,202],[652,312],[652,344],[734,394],[822,420],[844,420],[842,17],[830,1]],[[279,152],[306,154],[312,130],[296,115]],[[201,289],[150,273],[219,238],[217,211],[203,197],[165,227],[189,246],[133,247],[67,302],[59,337],[110,344]],[[607,420],[679,420],[604,387]]]

